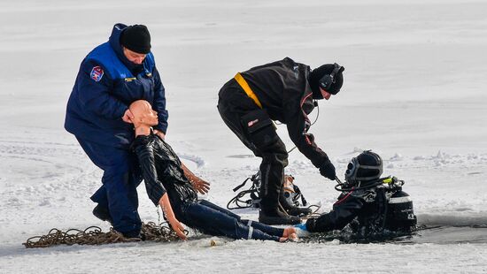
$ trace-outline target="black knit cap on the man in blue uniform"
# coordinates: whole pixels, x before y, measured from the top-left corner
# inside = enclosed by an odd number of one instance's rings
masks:
[[[151,34],[143,25],[129,26],[120,34],[120,44],[136,53],[148,54],[151,52]]]

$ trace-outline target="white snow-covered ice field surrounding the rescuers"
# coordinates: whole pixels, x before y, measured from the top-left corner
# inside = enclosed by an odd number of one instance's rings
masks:
[[[212,183],[206,199],[224,207],[259,167],[216,110],[220,87],[235,72],[291,57],[345,66],[342,92],[320,102],[310,131],[339,174],[374,149],[384,175],[406,180],[421,225],[487,225],[486,11],[480,0],[0,2],[0,273],[486,272],[482,228],[415,243],[21,245],[54,227],[109,227],[89,200],[102,172],[63,124],[82,58],[118,22],[151,31],[167,141]],[[278,132],[292,148],[285,126]],[[308,202],[331,209],[335,184],[305,156],[291,152],[287,172]],[[143,220],[157,221],[143,185],[139,200]]]

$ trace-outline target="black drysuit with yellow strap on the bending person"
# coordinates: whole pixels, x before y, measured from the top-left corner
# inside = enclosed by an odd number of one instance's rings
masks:
[[[309,66],[289,57],[241,72],[259,99],[261,109],[235,79],[220,89],[221,118],[255,156],[262,157],[259,169],[263,209],[277,206],[284,167],[288,164],[286,147],[275,133],[272,120],[287,125],[291,141],[314,166],[320,168],[329,163],[327,154],[314,143],[313,134],[307,133],[311,125],[307,115],[314,108],[309,72]]]

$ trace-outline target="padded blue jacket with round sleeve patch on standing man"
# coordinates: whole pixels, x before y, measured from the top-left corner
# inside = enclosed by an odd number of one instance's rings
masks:
[[[134,140],[131,124],[121,118],[130,103],[147,100],[158,112],[155,129],[166,133],[165,90],[149,53],[142,65],[128,61],[120,46],[127,27],[116,24],[108,42],[93,49],[81,63],[66,108],[65,128],[77,138],[98,144],[128,148]]]

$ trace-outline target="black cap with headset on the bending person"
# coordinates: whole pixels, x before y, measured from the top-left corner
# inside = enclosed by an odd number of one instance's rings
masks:
[[[333,73],[334,71],[335,73]],[[342,72],[344,72],[344,67],[336,63],[321,65],[310,72],[308,82],[313,91],[313,99],[323,99],[320,91],[321,85],[324,84],[323,80],[332,80],[329,88],[325,88],[325,90],[332,95],[336,95],[344,84],[344,75]],[[330,78],[332,74],[335,75]]]

